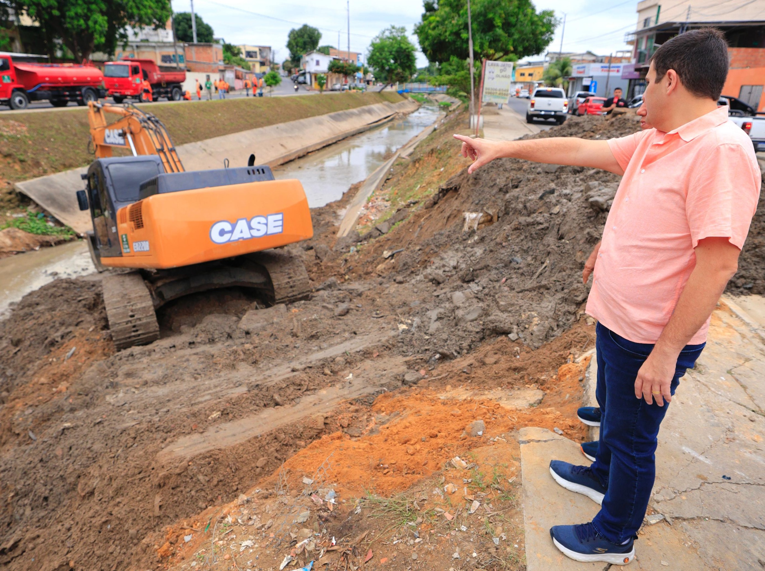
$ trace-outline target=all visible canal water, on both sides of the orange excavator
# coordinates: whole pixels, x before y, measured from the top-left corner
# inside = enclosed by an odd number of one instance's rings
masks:
[[[351,184],[371,175],[386,156],[434,123],[439,115],[437,107],[421,106],[402,119],[276,167],[274,176],[297,178],[308,196],[308,206],[324,206],[342,197]],[[0,318],[7,316],[8,304],[54,279],[95,271],[83,240],[0,259]]]

